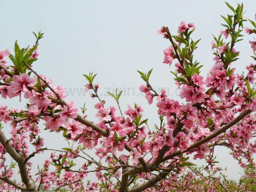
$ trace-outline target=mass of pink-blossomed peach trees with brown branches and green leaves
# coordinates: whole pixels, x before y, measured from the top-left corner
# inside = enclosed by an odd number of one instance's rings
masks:
[[[158,94],[151,87],[152,69],[147,73],[138,71],[144,80],[144,84],[138,85],[139,90],[145,93],[149,105],[154,103],[158,108],[159,122],[154,127],[148,126],[150,119],[142,118],[144,109],[140,104],[128,104],[124,111],[120,109],[122,91],[109,92],[116,106],[109,106],[101,99],[93,73],[84,75],[88,81],[84,90],[92,90],[91,97],[98,100],[93,100],[98,122],[87,119],[85,105],[80,112],[72,100],[65,101],[64,89],[38,74],[31,65],[38,59],[38,41],[43,33],[34,33],[36,43],[31,49],[20,48],[16,41],[13,54],[1,50],[1,97],[19,97],[20,102],[26,102],[26,108],[9,109],[8,105],[0,105],[0,188],[255,191],[256,41],[249,41],[252,63],[242,73],[235,70],[240,49],[235,49],[235,44],[242,40],[244,32],[256,34],[256,24],[248,19],[252,28],[243,26],[247,21],[243,4],[237,4],[236,9],[226,4],[232,14],[221,16],[225,20],[224,29],[218,37],[213,36],[214,61],[207,77],[200,75],[202,65],[193,58],[200,41],[191,38],[196,29],[194,23],[181,21],[177,35],[171,35],[173,29],[165,26],[156,31],[170,41],[170,46],[163,50],[163,63],[176,67],[170,75],[174,76],[181,100],[168,98],[164,89]],[[12,61],[10,65],[6,57]],[[44,125],[39,126],[39,122]],[[9,127],[3,127],[4,124]],[[60,132],[73,145],[48,149],[44,147],[42,132],[48,132],[49,137]],[[230,149],[244,169],[239,181],[227,179],[223,169],[216,166],[216,146]],[[32,161],[43,151],[52,153],[37,168]],[[206,165],[195,166],[189,157],[205,159]],[[76,163],[81,160],[82,164]],[[16,168],[20,180],[13,179]],[[38,173],[33,175],[31,169],[38,169]],[[86,181],[90,172],[97,179]]]

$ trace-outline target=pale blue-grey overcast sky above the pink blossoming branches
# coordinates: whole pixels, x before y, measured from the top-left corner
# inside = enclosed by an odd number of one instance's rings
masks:
[[[170,68],[163,64],[163,49],[170,43],[156,35],[156,30],[168,26],[171,35],[176,35],[182,20],[194,22],[197,27],[192,39],[196,41],[201,38],[194,60],[204,65],[201,74],[206,77],[206,70],[214,64],[211,34],[218,36],[219,31],[225,29],[220,24],[225,22],[220,14],[232,14],[225,2],[220,0],[14,2],[1,2],[0,50],[7,48],[14,54],[16,40],[21,48],[28,45],[32,47],[35,44],[32,31],[41,31],[44,37],[39,42],[39,56],[38,61],[33,63],[34,70],[53,79],[55,85],[62,85],[72,92],[75,90],[73,96],[69,92],[66,101],[73,99],[78,108],[86,103],[88,119],[95,120],[96,110],[93,106],[98,101],[91,99],[88,93],[85,96],[79,94],[87,83],[83,74],[94,72],[97,73],[94,83],[99,83],[99,94],[102,95],[101,99],[107,100],[106,106],[116,106],[114,100],[105,93],[118,87],[126,91],[120,98],[123,111],[127,104],[142,104],[145,109],[143,117],[149,118],[151,126],[159,123],[156,101],[149,106],[139,92],[139,86],[144,82],[137,70],[147,72],[153,68],[149,79],[152,87],[167,87],[171,99],[185,102],[179,99],[179,92],[175,92],[174,77],[169,72],[174,70],[176,62]],[[227,2],[236,7],[235,1]],[[247,10],[244,16],[254,20],[256,1],[243,3],[244,10]],[[251,27],[251,24],[247,21],[244,26]],[[248,40],[253,40],[253,37],[245,34],[244,39],[235,46],[241,58],[232,65],[238,69],[237,73],[244,71],[245,65],[253,62],[250,58],[252,49],[248,44]],[[15,103],[18,98],[15,99],[11,103],[8,99],[0,98],[0,102],[1,105],[15,107],[19,105]],[[21,106],[24,105],[23,99]],[[55,137],[55,134],[51,133],[51,136]],[[220,154],[227,152],[223,150]],[[222,165],[232,169],[227,175],[237,178],[235,173],[239,168],[236,161],[232,161],[231,156],[225,158],[227,163]],[[217,160],[223,159],[219,157]]]

